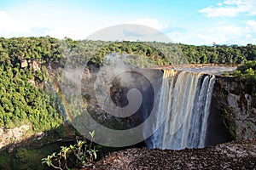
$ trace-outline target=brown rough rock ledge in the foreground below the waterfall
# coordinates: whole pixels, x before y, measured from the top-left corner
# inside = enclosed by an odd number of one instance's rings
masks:
[[[113,152],[96,169],[256,169],[256,139],[218,144],[204,149]]]

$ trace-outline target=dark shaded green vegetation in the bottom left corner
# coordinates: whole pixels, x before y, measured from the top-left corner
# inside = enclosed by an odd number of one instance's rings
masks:
[[[75,129],[72,125],[61,125],[44,133],[42,139],[27,138],[17,144],[15,148],[13,148],[13,144],[9,144],[8,150],[0,150],[0,169],[47,169],[42,164],[41,159],[59,150],[61,145],[70,144],[71,142],[66,142],[64,139],[67,136],[73,136]],[[56,141],[60,138],[64,139]]]

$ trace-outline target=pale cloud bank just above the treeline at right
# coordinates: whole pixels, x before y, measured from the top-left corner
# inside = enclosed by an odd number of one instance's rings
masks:
[[[240,26],[222,25],[209,26],[187,31],[172,31],[167,34],[174,42],[211,45],[218,44],[256,44],[256,20],[241,21]]]

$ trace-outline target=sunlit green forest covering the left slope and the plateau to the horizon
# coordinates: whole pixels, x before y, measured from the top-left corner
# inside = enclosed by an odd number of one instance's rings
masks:
[[[0,127],[14,128],[32,123],[32,133],[49,131],[64,124],[58,95],[67,49],[81,53],[73,63],[104,65],[107,54],[129,55],[134,63],[147,66],[172,64],[239,64],[234,76],[256,78],[256,45],[195,46],[164,42],[102,42],[59,40],[53,37],[0,37]],[[83,55],[84,52],[90,55]],[[180,59],[183,56],[183,59]],[[142,61],[142,62],[140,62]],[[54,76],[50,76],[54,75]],[[56,81],[55,81],[56,80]]]

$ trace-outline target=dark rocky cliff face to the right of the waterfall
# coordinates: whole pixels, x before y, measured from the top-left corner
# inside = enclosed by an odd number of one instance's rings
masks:
[[[213,91],[218,111],[234,139],[256,138],[256,85],[234,77],[218,77]]]

